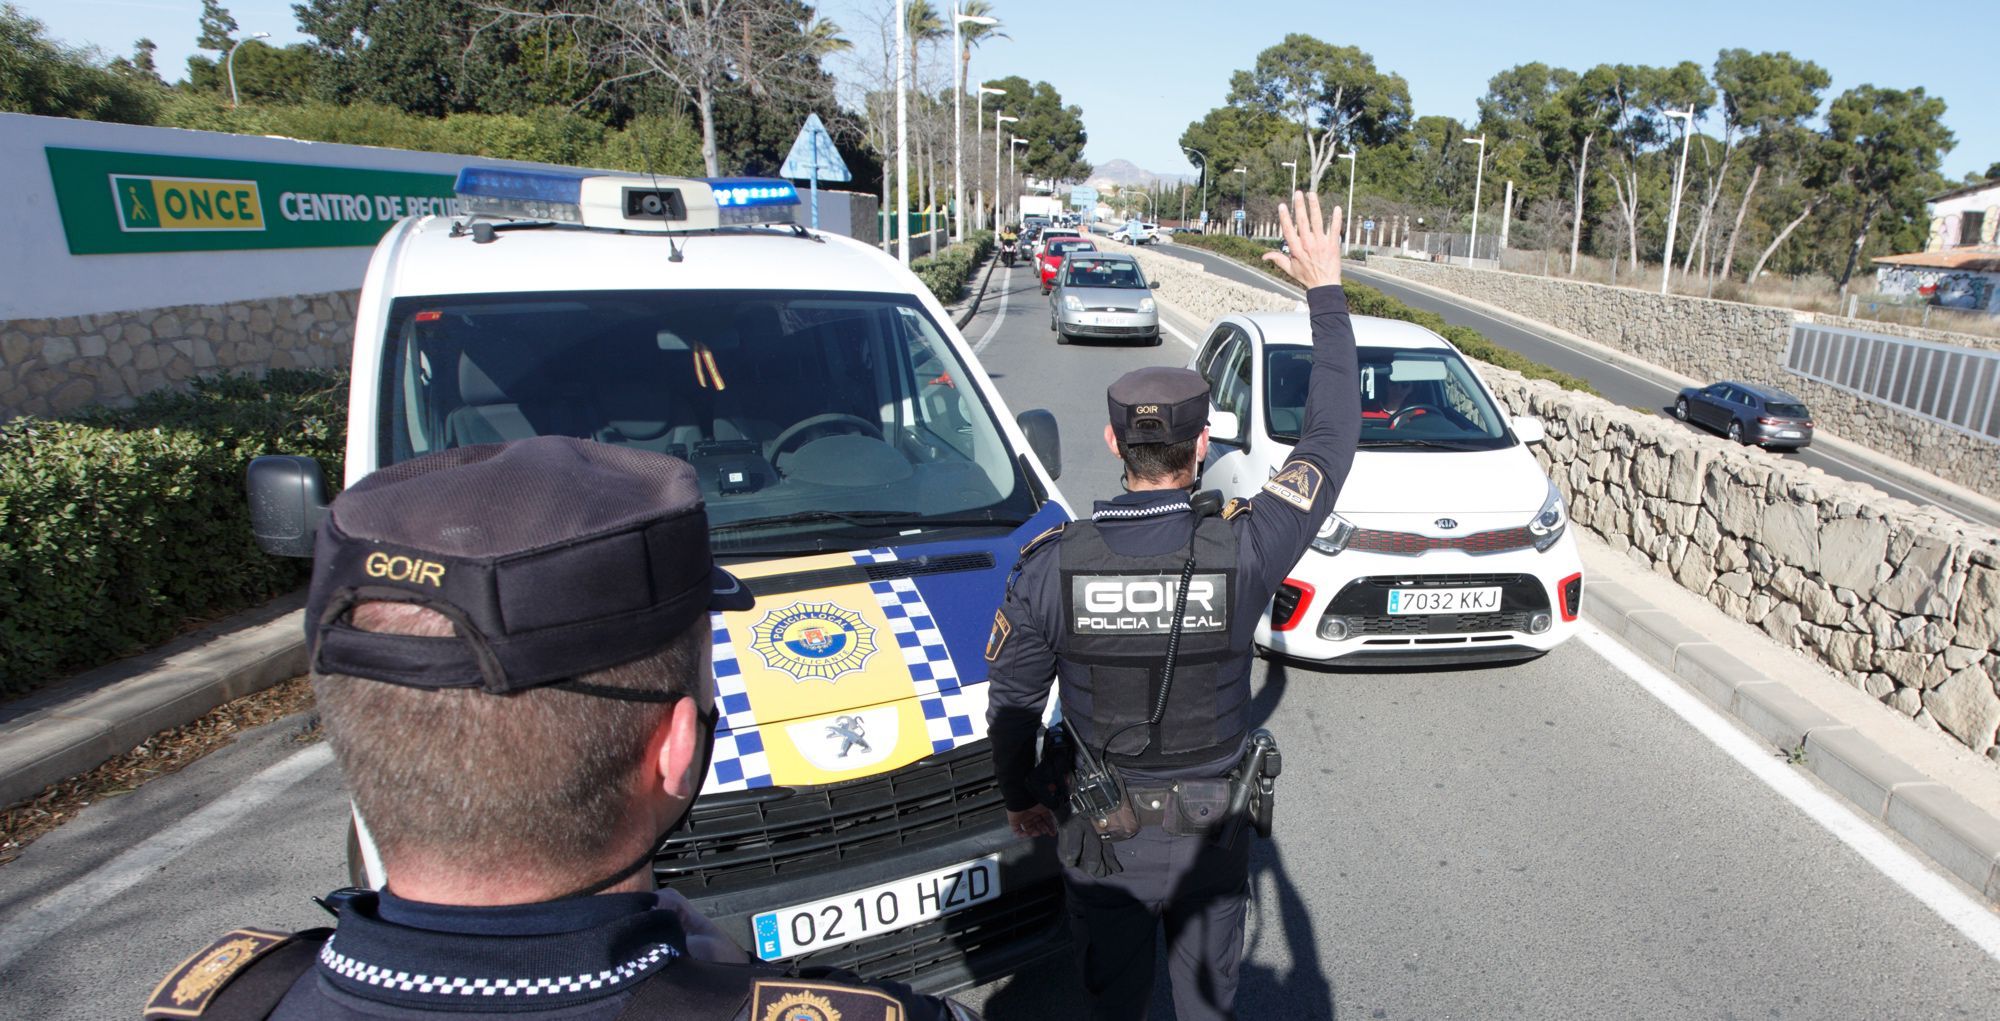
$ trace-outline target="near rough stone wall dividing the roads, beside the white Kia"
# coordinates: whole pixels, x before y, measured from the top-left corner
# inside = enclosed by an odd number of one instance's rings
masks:
[[[1138,260],[1202,322],[1298,304],[1178,258]],[[2000,761],[2000,533],[1664,414],[1474,366],[1512,414],[1546,424],[1532,450],[1574,527]]]

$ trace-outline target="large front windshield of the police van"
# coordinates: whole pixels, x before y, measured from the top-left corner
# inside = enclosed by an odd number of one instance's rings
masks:
[[[866,549],[1036,510],[992,408],[906,294],[400,298],[380,462],[538,434],[694,464],[718,553]],[[588,498],[588,494],[578,494]]]

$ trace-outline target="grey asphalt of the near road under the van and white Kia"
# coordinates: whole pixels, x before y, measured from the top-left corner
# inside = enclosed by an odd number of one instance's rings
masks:
[[[996,276],[966,336],[1016,410],[1062,420],[1062,486],[1086,508],[1116,492],[1104,384],[1192,348],[1058,348],[1028,280]],[[1254,855],[1244,1017],[1992,1017],[2000,959],[1584,643],[1510,669],[1260,665],[1254,711],[1286,775]],[[344,883],[346,803],[300,725],[0,867],[0,1015],[132,1017],[232,927],[320,925],[308,897]],[[966,999],[1078,1017],[1062,965]]]

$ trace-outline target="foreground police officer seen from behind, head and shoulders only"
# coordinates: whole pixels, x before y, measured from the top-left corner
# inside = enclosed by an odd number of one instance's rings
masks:
[[[544,436],[362,478],[306,611],[326,737],[388,873],[338,931],[238,929],[148,1017],[952,1019],[756,965],[652,859],[708,773],[714,567],[694,468]]]

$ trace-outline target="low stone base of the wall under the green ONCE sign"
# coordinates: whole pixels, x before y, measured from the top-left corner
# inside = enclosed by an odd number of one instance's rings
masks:
[[[0,420],[126,404],[214,372],[346,366],[356,294],[0,322]]]

